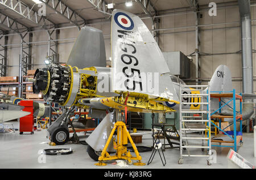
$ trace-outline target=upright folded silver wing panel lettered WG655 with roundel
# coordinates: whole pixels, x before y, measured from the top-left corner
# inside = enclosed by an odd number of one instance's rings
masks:
[[[111,39],[113,91],[179,101],[164,56],[141,18],[114,10]]]

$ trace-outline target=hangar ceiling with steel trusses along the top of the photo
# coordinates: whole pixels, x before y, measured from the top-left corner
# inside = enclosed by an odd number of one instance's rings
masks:
[[[110,20],[114,8],[129,11],[143,17],[167,14],[179,10],[191,10],[193,1],[200,8],[209,8],[210,0],[37,0],[46,6],[46,15],[40,16],[39,5],[32,0],[0,0],[0,30],[20,33],[27,29],[51,29],[75,25],[86,25]],[[133,1],[127,7],[126,1]],[[234,0],[214,0],[221,6],[237,5]],[[254,1],[251,1],[254,2]]]

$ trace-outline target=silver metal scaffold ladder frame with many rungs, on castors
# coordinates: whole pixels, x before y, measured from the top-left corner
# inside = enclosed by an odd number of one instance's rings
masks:
[[[183,88],[190,88],[190,89],[183,89]],[[200,88],[200,89],[192,89],[192,88]],[[206,93],[203,92],[206,88]],[[191,94],[183,94],[183,91],[199,91],[199,93],[191,93]],[[180,84],[180,106],[179,106],[179,113],[180,113],[180,158],[178,160],[178,164],[183,164],[183,157],[208,157],[207,164],[210,165],[210,156],[212,155],[212,145],[210,141],[210,85],[181,85]],[[203,96],[207,96],[207,102],[203,102]],[[195,99],[191,100],[191,102],[183,102],[184,97],[190,97],[190,98],[197,98],[197,102],[195,102]],[[199,102],[200,98],[200,102]],[[199,109],[183,109],[183,104],[189,104],[189,105],[200,105]],[[207,109],[204,110],[204,105],[207,105]],[[183,115],[183,114],[189,114],[189,115]],[[201,114],[200,116],[193,116],[192,114]],[[207,114],[207,119],[204,119],[204,114]],[[188,119],[186,119],[188,118]],[[201,118],[201,119],[195,119],[195,118]],[[193,122],[198,125],[198,127],[185,127],[184,122]],[[207,126],[200,126],[203,125],[203,123],[206,122]],[[185,134],[185,137],[183,137],[183,132]],[[195,131],[195,132],[203,132],[207,131],[207,137],[193,137],[193,136],[187,136],[187,131]],[[203,133],[202,133],[203,134]],[[186,141],[187,145],[183,145],[183,139]],[[188,145],[188,140],[202,140],[202,145]],[[204,146],[204,141],[207,140],[207,146]],[[183,154],[183,148],[186,148],[188,151],[187,155]],[[191,155],[189,152],[189,148],[199,148],[199,149],[208,149],[208,155]]]

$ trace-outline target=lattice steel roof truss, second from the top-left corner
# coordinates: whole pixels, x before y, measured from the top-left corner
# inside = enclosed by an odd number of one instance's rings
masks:
[[[51,10],[55,11],[57,14],[63,16],[63,18],[67,19],[69,23],[76,25],[80,29],[80,25],[86,24],[86,20],[82,18],[77,12],[72,10],[72,8],[65,5],[65,3],[60,0],[39,0],[44,3],[47,7],[51,8]],[[84,23],[79,24],[79,18],[84,21]]]

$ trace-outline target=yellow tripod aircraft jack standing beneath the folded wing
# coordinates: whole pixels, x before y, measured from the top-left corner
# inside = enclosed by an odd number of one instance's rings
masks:
[[[114,139],[114,149],[117,151],[114,156],[110,156],[109,153],[106,151],[108,149],[109,143],[114,135],[115,130],[117,130],[117,142],[115,142]],[[134,149],[136,157],[131,156],[130,151],[127,152],[127,140],[130,140],[130,143]],[[114,128],[112,129],[109,139],[106,142],[106,145],[101,152],[101,156],[98,157],[98,163],[96,163],[96,166],[105,166],[106,164],[102,161],[108,161],[108,160],[117,160],[117,159],[123,159],[127,160],[128,164],[132,164],[131,160],[138,160],[133,165],[135,166],[144,166],[143,162],[141,162],[141,156],[139,155],[139,152],[137,150],[136,145],[133,142],[133,139],[131,139],[131,136],[125,126],[125,123],[122,121],[118,121],[115,123]]]

